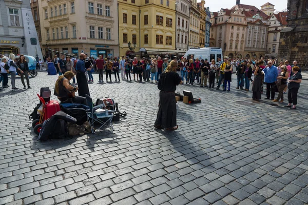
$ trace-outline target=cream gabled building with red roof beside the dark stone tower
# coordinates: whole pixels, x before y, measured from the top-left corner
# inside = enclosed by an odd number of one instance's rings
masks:
[[[279,12],[268,16],[268,33],[266,40],[266,58],[277,58],[279,49],[280,31],[286,27],[287,12]]]

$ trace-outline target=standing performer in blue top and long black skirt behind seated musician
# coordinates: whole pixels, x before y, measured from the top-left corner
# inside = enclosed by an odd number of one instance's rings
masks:
[[[79,60],[76,63],[76,78],[77,78],[77,84],[78,84],[78,95],[86,97],[86,94],[90,96],[90,91],[88,87],[88,81],[86,78],[86,66],[85,66],[85,54],[81,53],[79,55]]]

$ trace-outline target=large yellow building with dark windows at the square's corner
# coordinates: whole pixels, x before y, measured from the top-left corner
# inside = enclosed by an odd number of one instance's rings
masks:
[[[120,55],[176,54],[175,9],[175,0],[119,0]]]

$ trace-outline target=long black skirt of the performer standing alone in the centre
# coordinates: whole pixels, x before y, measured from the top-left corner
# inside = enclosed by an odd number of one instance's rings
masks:
[[[173,128],[177,126],[177,107],[175,93],[160,91],[156,126]]]

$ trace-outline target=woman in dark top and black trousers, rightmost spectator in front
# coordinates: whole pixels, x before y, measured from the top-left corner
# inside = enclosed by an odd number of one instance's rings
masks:
[[[292,68],[292,75],[290,76],[290,78],[288,79],[288,85],[287,85],[287,100],[288,100],[288,104],[287,106],[284,106],[286,108],[290,108],[291,110],[295,110],[296,109],[296,105],[297,105],[297,92],[299,89],[299,84],[301,83],[301,79],[302,76],[300,74],[299,71],[299,67],[298,66],[294,66]],[[291,105],[293,104],[293,107],[291,108]]]

